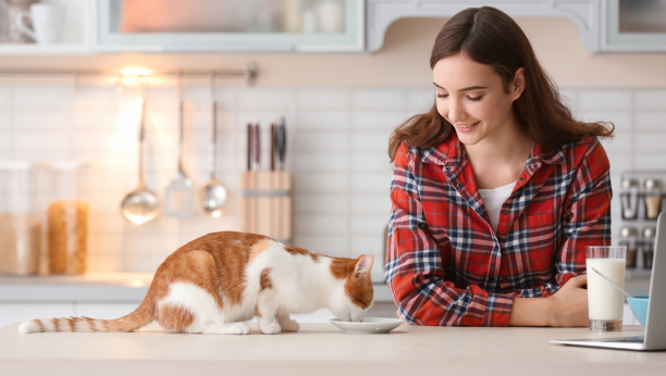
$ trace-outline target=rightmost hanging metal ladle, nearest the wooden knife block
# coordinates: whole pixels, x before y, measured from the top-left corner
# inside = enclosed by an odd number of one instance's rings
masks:
[[[226,188],[215,179],[215,145],[218,141],[217,102],[214,95],[214,75],[211,76],[211,120],[210,120],[210,180],[202,188],[203,200],[201,205],[211,216],[222,215],[222,208],[226,202]]]

